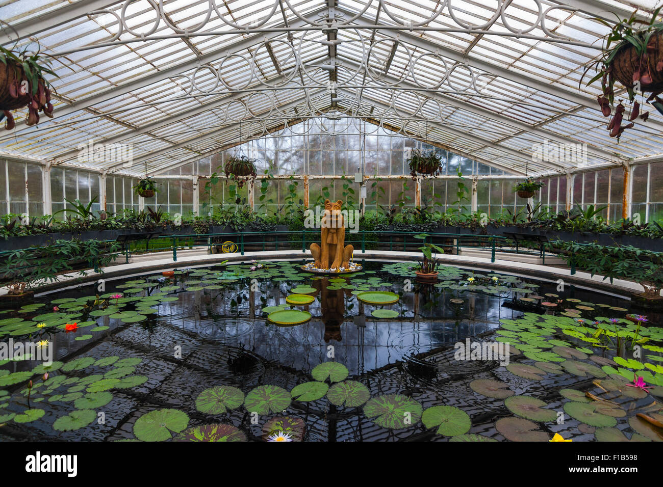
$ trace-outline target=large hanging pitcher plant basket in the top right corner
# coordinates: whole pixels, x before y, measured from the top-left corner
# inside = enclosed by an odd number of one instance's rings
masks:
[[[591,85],[601,80],[602,94],[597,101],[604,117],[610,117],[607,130],[611,137],[619,137],[623,131],[630,129],[634,121],[640,117],[648,119],[649,113],[640,113],[640,103],[636,101],[636,92],[652,93],[646,101],[655,100],[654,107],[663,113],[663,99],[657,95],[663,91],[663,23],[656,22],[658,7],[648,22],[636,18],[636,12],[629,19],[617,18],[616,23],[593,18],[610,29],[603,38],[603,55],[596,62],[585,68],[580,83],[589,70],[597,74],[587,81]],[[615,81],[619,81],[627,89],[631,102],[629,115],[622,101],[615,107]],[[625,125],[623,121],[627,118]]]

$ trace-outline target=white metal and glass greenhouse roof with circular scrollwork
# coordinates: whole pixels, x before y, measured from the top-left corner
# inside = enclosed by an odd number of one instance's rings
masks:
[[[650,110],[618,144],[599,87],[579,85],[607,31],[591,17],[629,17],[634,6],[644,18],[654,1],[5,1],[3,45],[37,41],[60,79],[54,119],[17,118],[0,150],[158,174],[324,115],[514,174],[577,168],[532,160],[544,141],[587,144],[589,165],[650,160],[663,154],[663,117]],[[131,164],[81,160],[90,139],[131,143]]]

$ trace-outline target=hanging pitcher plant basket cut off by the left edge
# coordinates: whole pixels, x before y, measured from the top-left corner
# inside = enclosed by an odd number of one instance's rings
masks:
[[[5,119],[5,129],[15,127],[12,111],[22,107],[28,107],[26,125],[39,123],[40,111],[52,118],[50,83],[44,74],[57,75],[46,68],[40,53],[17,54],[0,46],[0,62],[0,120]]]

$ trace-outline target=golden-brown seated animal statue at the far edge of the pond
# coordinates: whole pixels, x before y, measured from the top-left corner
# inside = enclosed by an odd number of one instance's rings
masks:
[[[345,245],[345,220],[341,213],[343,201],[325,200],[325,211],[320,221],[320,245],[312,243],[311,254],[318,269],[349,269],[349,261],[355,248]]]

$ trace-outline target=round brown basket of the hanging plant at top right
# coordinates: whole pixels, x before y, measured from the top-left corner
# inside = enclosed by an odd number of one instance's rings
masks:
[[[649,74],[650,83],[644,83],[640,80],[640,89],[642,91],[661,91],[663,90],[663,70],[657,71],[656,65],[663,61],[663,32],[656,32],[650,38],[649,49],[646,54],[640,58],[632,44],[627,44],[617,51],[613,58],[613,74],[615,79],[624,86],[633,86],[633,73],[639,71],[640,76]]]

